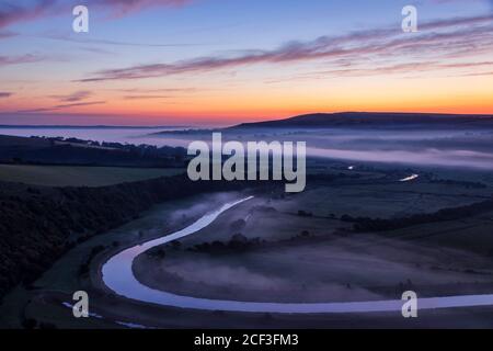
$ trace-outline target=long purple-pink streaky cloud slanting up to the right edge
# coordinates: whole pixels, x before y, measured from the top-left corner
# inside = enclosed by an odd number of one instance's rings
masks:
[[[397,27],[355,32],[348,35],[322,36],[311,42],[290,42],[272,50],[250,49],[236,56],[209,56],[171,64],[137,65],[106,69],[80,81],[106,81],[164,77],[171,75],[207,72],[255,64],[286,64],[324,59],[339,67],[358,60],[415,56],[452,57],[492,50],[493,16],[457,18],[427,22],[417,34],[404,34]]]

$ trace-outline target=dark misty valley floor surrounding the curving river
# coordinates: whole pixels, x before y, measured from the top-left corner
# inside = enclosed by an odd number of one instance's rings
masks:
[[[325,170],[328,173],[329,170]],[[332,170],[337,173],[339,170]],[[311,183],[306,193],[273,192],[222,214],[199,233],[141,254],[137,279],[182,295],[257,302],[331,302],[493,292],[493,212],[381,233],[355,233],[342,216],[400,218],[491,199],[493,188],[399,182],[388,169],[354,179]],[[423,173],[421,173],[423,174]],[[372,182],[372,183],[371,183]],[[200,312],[118,297],[104,286],[101,267],[133,245],[190,225],[241,193],[200,195],[154,206],[140,218],[77,246],[32,286],[19,286],[0,308],[0,324],[26,320],[58,328],[416,328],[493,327],[493,307],[395,314],[277,315]],[[231,241],[239,240],[233,246]],[[214,245],[214,242],[216,242]],[[220,242],[220,244],[217,244]],[[206,245],[204,245],[206,244]],[[104,249],[92,254],[93,248]],[[90,260],[89,274],[80,267]],[[76,319],[64,303],[90,295],[99,317]]]

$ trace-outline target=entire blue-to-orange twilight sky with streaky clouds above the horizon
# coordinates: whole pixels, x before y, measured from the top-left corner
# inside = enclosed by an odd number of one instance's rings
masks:
[[[493,0],[0,0],[0,124],[493,114],[492,98]]]

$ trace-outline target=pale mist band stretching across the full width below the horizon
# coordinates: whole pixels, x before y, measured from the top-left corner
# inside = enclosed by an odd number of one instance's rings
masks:
[[[486,125],[488,126],[488,125]],[[337,127],[233,127],[223,129],[176,128],[1,128],[18,136],[77,137],[95,141],[171,145],[187,147],[194,140],[211,141],[221,132],[223,141],[306,141],[309,156],[330,159],[493,169],[493,131],[468,124],[446,126],[400,123]]]

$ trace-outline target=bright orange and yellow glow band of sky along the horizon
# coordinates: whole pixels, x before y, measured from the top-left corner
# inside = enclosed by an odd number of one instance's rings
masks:
[[[93,124],[125,125],[232,125],[345,111],[493,114],[493,79],[484,77],[398,79],[385,76],[364,80],[353,77],[275,86],[250,82],[238,89],[131,99],[94,84],[88,88],[94,91],[90,99],[61,107],[57,107],[60,102],[53,97],[64,88],[51,89],[53,92],[33,90],[30,97],[2,99],[0,111],[94,115],[99,117]]]

